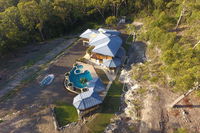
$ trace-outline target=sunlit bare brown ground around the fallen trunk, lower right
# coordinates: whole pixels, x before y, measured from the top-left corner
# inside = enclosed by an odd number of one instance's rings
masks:
[[[200,100],[195,93],[178,103],[179,108],[171,108],[170,104],[180,94],[169,88],[152,88],[143,99],[141,110],[141,133],[173,133],[184,128],[188,133],[199,133]]]

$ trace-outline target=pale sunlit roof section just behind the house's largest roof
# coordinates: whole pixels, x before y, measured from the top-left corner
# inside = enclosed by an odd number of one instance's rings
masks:
[[[89,45],[97,46],[97,45],[100,45],[102,43],[108,42],[108,41],[110,41],[109,36],[111,36],[111,35],[99,33],[96,37],[90,39]]]

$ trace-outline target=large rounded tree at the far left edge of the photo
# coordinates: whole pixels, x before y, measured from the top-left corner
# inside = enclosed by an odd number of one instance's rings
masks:
[[[16,7],[7,8],[0,13],[0,49],[16,48],[26,42],[26,31],[23,30],[20,14]]]

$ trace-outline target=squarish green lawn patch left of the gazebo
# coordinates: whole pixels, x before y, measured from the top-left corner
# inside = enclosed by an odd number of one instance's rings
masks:
[[[60,127],[78,120],[78,114],[73,105],[66,103],[57,103],[54,108],[55,117]]]

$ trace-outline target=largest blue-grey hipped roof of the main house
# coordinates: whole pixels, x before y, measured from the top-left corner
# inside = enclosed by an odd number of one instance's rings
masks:
[[[119,36],[109,36],[109,41],[97,45],[92,52],[114,57],[121,45],[122,39]]]

